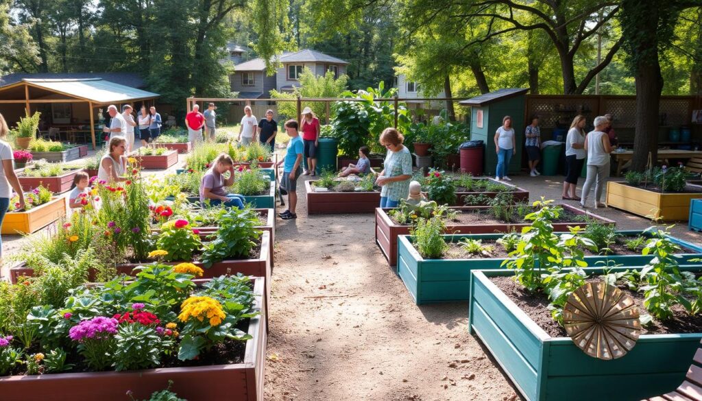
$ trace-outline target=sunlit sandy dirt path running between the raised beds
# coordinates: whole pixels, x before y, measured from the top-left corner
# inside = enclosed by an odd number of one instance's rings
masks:
[[[277,222],[266,400],[517,399],[468,334],[466,303],[417,307],[372,215],[307,217],[304,198]]]

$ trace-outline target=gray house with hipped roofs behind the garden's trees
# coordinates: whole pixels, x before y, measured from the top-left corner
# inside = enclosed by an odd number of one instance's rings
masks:
[[[270,98],[273,89],[279,92],[291,92],[294,86],[300,86],[298,79],[303,68],[307,67],[317,77],[332,71],[338,77],[346,73],[349,64],[340,58],[326,55],[319,51],[303,49],[292,53],[279,55],[282,67],[275,74],[265,74],[265,63],[262,58],[254,58],[234,66],[234,74],[230,75],[232,91],[239,92],[239,98]]]

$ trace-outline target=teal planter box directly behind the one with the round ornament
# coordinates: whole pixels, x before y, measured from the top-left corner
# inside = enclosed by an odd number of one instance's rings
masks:
[[[639,235],[641,231],[620,231],[623,234]],[[503,234],[444,235],[448,242],[458,242],[464,238],[498,239]],[[424,259],[420,256],[409,235],[400,235],[397,244],[397,274],[404,282],[417,305],[424,303],[468,301],[470,299],[470,272],[472,270],[503,269],[505,258],[470,258],[470,259]],[[698,253],[681,254],[681,265],[696,265],[689,262],[691,258],[702,258],[702,246],[684,242],[670,237],[677,244]],[[649,263],[651,256],[585,256],[591,268],[607,263],[625,266],[643,266]],[[702,270],[702,265],[700,266]]]

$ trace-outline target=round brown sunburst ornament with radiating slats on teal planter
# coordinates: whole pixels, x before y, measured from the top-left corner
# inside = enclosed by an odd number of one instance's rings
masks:
[[[601,360],[623,357],[641,334],[634,300],[604,282],[588,282],[571,294],[563,325],[578,348]]]

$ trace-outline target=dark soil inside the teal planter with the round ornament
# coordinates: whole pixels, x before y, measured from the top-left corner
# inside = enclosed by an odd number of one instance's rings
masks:
[[[517,304],[519,309],[534,320],[549,336],[567,337],[565,329],[551,318],[548,310],[548,297],[539,292],[531,294],[524,290],[524,287],[515,282],[514,277],[489,277],[489,280],[503,291],[508,298]],[[588,282],[599,281],[598,278],[589,279]],[[644,308],[644,294],[632,292],[625,287],[619,287],[630,295],[639,308],[639,313],[647,314]],[[684,334],[699,333],[702,330],[702,315],[690,316],[680,305],[673,307],[673,319],[667,322],[654,320],[647,327],[642,327],[641,334]]]

